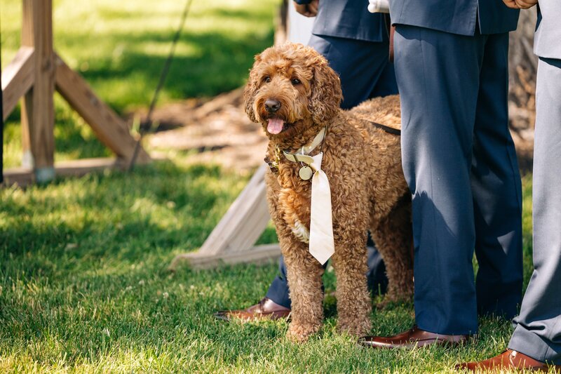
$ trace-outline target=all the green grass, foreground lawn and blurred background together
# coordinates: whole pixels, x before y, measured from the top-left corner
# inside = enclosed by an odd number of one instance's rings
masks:
[[[195,0],[162,102],[210,96],[243,84],[252,55],[272,43],[276,0]],[[182,1],[55,1],[55,47],[121,113],[144,107],[179,22]],[[20,0],[0,3],[4,66],[18,48]],[[56,159],[109,153],[62,99]],[[19,112],[4,135],[5,166],[20,163]],[[510,323],[481,321],[466,347],[360,349],[335,332],[325,301],[320,334],[285,340],[284,321],[224,323],[218,309],[264,295],[276,264],[166,271],[200,247],[248,175],[170,161],[134,173],[97,173],[47,186],[0,189],[0,372],[427,373],[501,352]],[[531,182],[525,178],[525,279],[531,274]],[[276,239],[269,229],[259,239]],[[327,292],[334,289],[327,272]],[[410,327],[412,305],[372,313],[372,333]]]

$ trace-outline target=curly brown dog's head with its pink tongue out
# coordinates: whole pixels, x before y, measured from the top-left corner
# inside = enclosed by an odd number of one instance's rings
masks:
[[[287,43],[255,56],[243,99],[270,139],[287,139],[337,114],[341,83],[313,48]]]

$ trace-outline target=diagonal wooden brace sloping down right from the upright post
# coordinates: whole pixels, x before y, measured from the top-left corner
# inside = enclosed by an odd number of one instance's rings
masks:
[[[129,161],[133,156],[136,140],[129,128],[107,104],[97,98],[86,81],[55,55],[56,88],[67,102],[93,128],[97,138],[119,158]],[[150,157],[140,149],[137,163],[147,163]]]

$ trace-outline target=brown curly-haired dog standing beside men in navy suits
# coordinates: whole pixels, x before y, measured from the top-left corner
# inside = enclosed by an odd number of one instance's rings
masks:
[[[370,330],[371,312],[365,276],[367,229],[386,263],[386,298],[410,298],[413,289],[411,202],[401,168],[400,137],[370,123],[399,126],[398,96],[343,111],[339,77],[327,60],[313,48],[288,43],[255,56],[244,100],[245,112],[262,123],[269,138],[266,160],[278,161],[278,170],[271,169],[265,178],[292,299],[289,338],[302,342],[320,329],[323,267],[306,243],[311,181],[299,178],[301,166],[278,157],[276,149],[295,153],[323,127],[327,132],[321,145],[322,170],[332,194],[338,328],[364,335]]]

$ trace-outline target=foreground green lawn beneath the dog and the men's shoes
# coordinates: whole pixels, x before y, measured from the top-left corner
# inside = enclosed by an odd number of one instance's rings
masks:
[[[285,339],[283,321],[213,318],[259,300],[276,265],[166,267],[201,246],[247,180],[178,154],[132,174],[0,190],[0,372],[427,373],[506,347],[510,323],[484,319],[466,347],[361,349],[334,330],[332,298],[325,327],[304,345]],[[526,178],[526,202],[530,189]],[[269,229],[262,241],[271,239]],[[529,252],[526,243],[527,265]],[[333,272],[325,278],[330,292]],[[376,310],[372,333],[405,329],[412,314],[412,305]]]

